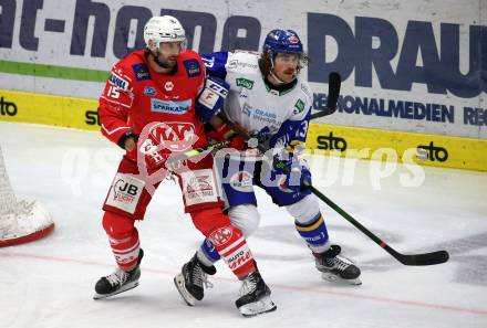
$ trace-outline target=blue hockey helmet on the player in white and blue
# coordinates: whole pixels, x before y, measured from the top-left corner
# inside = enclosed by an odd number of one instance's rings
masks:
[[[302,43],[292,30],[272,30],[263,41],[263,52],[302,54]]]

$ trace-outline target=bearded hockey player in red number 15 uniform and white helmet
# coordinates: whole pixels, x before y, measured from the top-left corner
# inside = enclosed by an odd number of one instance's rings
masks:
[[[167,176],[167,158],[207,144],[196,102],[221,106],[227,93],[225,83],[216,87],[205,78],[199,55],[185,50],[185,31],[177,19],[152,18],[144,28],[144,40],[147,49],[128,54],[113,66],[100,97],[102,134],[126,154],[103,205],[103,228],[118,268],[99,279],[95,299],[138,285],[144,253],[134,223],[144,219],[153,191]],[[244,282],[250,274],[259,275],[241,231],[222,213],[213,157],[170,170],[182,189],[185,212],[211,240],[235,275]],[[213,273],[196,255],[193,265]],[[258,297],[242,295],[238,300],[249,303],[269,294],[266,286]]]

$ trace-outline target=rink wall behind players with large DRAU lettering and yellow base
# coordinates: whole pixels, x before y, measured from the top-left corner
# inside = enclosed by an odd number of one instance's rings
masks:
[[[407,144],[425,163],[487,170],[485,0],[0,0],[0,120],[97,129],[108,70],[145,46],[144,24],[162,14],[200,53],[260,51],[270,30],[297,31],[314,110],[327,106],[329,74],[342,77],[311,148],[340,137],[401,159]]]

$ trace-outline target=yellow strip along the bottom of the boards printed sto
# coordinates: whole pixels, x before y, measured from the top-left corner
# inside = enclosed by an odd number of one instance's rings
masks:
[[[0,120],[99,130],[97,100],[0,91]],[[342,157],[487,171],[487,140],[311,124],[307,148]]]

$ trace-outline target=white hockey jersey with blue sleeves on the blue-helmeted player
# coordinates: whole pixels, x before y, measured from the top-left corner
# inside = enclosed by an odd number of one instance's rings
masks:
[[[207,73],[230,84],[225,114],[250,135],[265,135],[263,146],[281,148],[304,142],[313,97],[308,83],[298,77],[284,92],[270,88],[260,73],[260,54],[216,52],[201,55]]]

